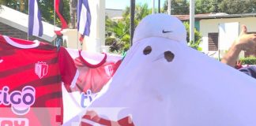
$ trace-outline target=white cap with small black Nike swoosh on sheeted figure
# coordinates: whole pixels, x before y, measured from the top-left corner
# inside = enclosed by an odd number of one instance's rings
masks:
[[[163,33],[163,31],[168,32]],[[157,14],[157,18],[154,15],[149,15],[142,19],[134,31],[133,43],[153,36],[173,39],[186,44],[186,28],[183,23],[178,18],[169,17],[164,13]]]

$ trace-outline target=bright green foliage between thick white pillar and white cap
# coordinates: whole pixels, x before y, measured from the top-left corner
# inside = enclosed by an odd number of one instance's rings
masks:
[[[135,6],[134,24],[149,15],[148,5]],[[110,46],[111,52],[122,53],[130,48],[130,7],[126,7],[122,13],[122,20],[113,21],[106,17],[106,32],[113,35],[106,36],[106,45]]]

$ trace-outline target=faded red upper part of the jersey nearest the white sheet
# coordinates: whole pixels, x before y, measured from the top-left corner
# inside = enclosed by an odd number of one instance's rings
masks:
[[[79,50],[73,50],[77,52],[73,52],[73,54],[77,54],[73,57],[73,65],[79,72],[77,77],[77,81],[75,82],[75,87],[72,89],[66,86],[67,91],[80,91],[80,92],[87,92],[88,90],[92,91],[92,93],[98,93],[102,87],[114,76],[116,70],[119,68],[121,64],[121,57],[120,60],[111,61],[107,54],[104,54],[101,60],[97,61],[95,65],[90,64],[88,61],[85,60],[85,57],[82,57]],[[90,57],[99,57],[99,54],[92,54]],[[89,57],[88,57],[89,58]],[[71,64],[70,64],[71,65]],[[70,81],[66,81],[70,83]],[[70,84],[68,84],[70,85]]]

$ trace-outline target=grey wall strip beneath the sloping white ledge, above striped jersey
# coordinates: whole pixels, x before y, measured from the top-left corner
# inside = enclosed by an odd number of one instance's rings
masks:
[[[7,24],[3,24],[2,22],[0,22],[0,35],[7,35],[13,38],[18,38],[18,39],[27,39],[28,34],[27,32],[21,31],[17,28],[13,28]],[[29,36],[29,40],[39,40],[40,42],[46,42],[46,43],[50,43],[47,42],[46,40],[40,39],[38,37],[35,36]]]

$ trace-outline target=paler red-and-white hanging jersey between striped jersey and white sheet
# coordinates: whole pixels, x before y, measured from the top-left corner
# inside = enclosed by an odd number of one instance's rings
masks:
[[[111,80],[121,63],[122,57],[117,54],[100,54],[85,50],[65,48],[61,48],[61,50],[70,54],[73,59],[74,67],[70,68],[75,69],[69,71],[76,72],[75,76],[71,77],[72,82],[66,80],[68,79],[67,76],[66,79],[62,78],[66,82],[62,86],[63,125],[79,125],[83,116],[81,113],[84,113],[84,110],[91,104],[97,93]],[[60,65],[64,66],[64,64]]]

